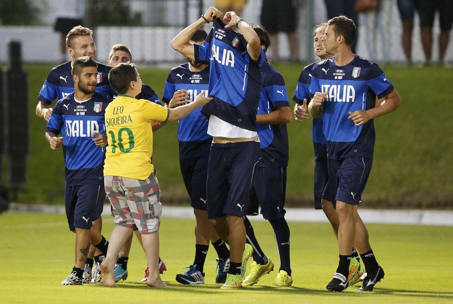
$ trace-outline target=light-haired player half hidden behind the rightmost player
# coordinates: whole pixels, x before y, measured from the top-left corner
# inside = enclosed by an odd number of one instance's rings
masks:
[[[319,57],[319,62],[332,57],[332,54],[326,52],[324,42],[321,38],[324,36],[324,31],[327,28],[327,23],[322,23],[314,31],[314,46],[315,53]],[[313,74],[313,68],[318,62],[313,63],[302,70],[294,92],[293,100],[296,102],[294,114],[296,121],[308,119],[307,101],[310,101],[310,82]],[[338,76],[337,76],[338,78]],[[327,188],[328,170],[327,170],[327,145],[326,138],[323,134],[323,116],[313,118],[313,147],[315,150],[315,180],[314,180],[314,197],[315,209],[322,209],[326,214],[327,219],[332,225],[335,237],[338,238],[338,215],[335,210],[335,198],[332,198]],[[324,193],[324,194],[323,194]],[[357,215],[358,216],[358,215]],[[360,281],[360,276],[364,270],[360,264],[360,258],[355,249],[352,250],[352,256],[349,262],[349,285],[354,285]]]

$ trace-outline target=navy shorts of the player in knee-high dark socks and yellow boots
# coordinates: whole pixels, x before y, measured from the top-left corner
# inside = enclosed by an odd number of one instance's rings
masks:
[[[250,194],[248,215],[260,213],[267,220],[280,219],[285,216],[286,166],[259,167],[253,175],[253,187]]]

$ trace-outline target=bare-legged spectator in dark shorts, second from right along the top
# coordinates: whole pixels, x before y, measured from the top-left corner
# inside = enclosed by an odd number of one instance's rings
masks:
[[[403,25],[403,49],[406,59],[412,62],[412,29],[414,28],[414,14],[418,10],[419,0],[398,0],[398,11]]]

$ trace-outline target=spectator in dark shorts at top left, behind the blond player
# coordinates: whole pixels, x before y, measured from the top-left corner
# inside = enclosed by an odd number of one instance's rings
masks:
[[[73,27],[78,25],[83,26],[84,15],[85,1],[58,1],[57,18],[54,30],[55,32],[60,32],[60,52],[62,61],[65,61],[66,56],[66,35]]]

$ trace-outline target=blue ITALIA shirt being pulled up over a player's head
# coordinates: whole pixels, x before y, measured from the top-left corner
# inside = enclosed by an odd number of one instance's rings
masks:
[[[194,44],[195,63],[209,64],[209,96],[213,97],[201,112],[207,118],[212,114],[237,127],[256,131],[264,51],[255,62],[247,52],[244,36],[224,27],[220,19],[214,19],[204,43]]]

